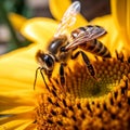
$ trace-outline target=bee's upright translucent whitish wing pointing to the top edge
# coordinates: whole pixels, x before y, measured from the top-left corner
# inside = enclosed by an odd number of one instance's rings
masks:
[[[63,15],[63,18],[57,26],[57,30],[54,37],[58,37],[60,35],[65,34],[65,30],[69,28],[76,22],[76,15],[80,12],[80,2],[76,1],[70,4],[70,6],[66,10]]]

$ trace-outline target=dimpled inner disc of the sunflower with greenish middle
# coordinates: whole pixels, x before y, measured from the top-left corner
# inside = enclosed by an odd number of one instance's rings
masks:
[[[96,79],[88,74],[84,65],[76,65],[75,72],[69,70],[66,89],[75,98],[100,98],[112,92],[128,75],[127,64],[117,60],[95,61],[93,63],[96,72]]]

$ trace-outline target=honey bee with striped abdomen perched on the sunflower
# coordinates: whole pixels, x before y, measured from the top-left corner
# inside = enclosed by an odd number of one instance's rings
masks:
[[[48,79],[50,79],[54,70],[55,63],[60,63],[60,83],[61,86],[65,86],[64,67],[67,65],[67,61],[69,58],[75,60],[79,54],[81,54],[89,74],[95,78],[94,67],[83,51],[91,52],[92,54],[102,57],[110,57],[108,49],[101,41],[96,40],[96,38],[106,34],[106,30],[103,27],[96,25],[88,25],[86,27],[79,27],[73,30],[72,34],[67,36],[66,30],[75,24],[76,15],[79,12],[80,2],[76,1],[72,3],[64,13],[52,41],[47,47],[47,51],[43,52],[42,50],[39,50],[37,52],[36,58],[40,64],[40,67],[36,69],[34,89],[36,86],[37,73],[39,69],[43,81],[49,89],[43,74],[46,74],[46,76],[48,76]]]

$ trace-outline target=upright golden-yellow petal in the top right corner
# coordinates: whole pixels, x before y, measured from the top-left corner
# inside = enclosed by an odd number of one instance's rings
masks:
[[[126,49],[130,51],[130,1],[112,0],[110,2],[115,26],[125,41]]]

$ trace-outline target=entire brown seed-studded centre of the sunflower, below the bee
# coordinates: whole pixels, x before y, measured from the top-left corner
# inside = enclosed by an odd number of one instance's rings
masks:
[[[76,64],[75,72],[68,69],[66,88],[57,79],[49,84],[50,91],[40,95],[37,107],[39,130],[130,127],[130,64],[119,58],[92,64],[100,80],[93,79],[86,66]]]

